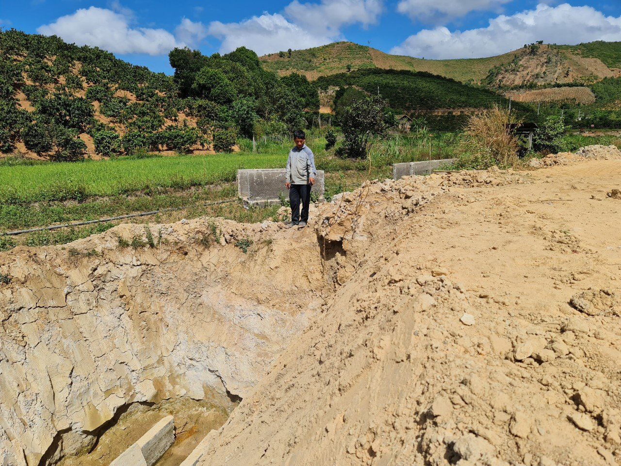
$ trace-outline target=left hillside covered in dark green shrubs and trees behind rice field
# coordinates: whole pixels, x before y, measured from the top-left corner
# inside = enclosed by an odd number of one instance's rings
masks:
[[[231,150],[237,134],[285,132],[319,106],[306,78],[278,78],[243,47],[212,57],[176,49],[170,60],[175,76],[55,36],[0,30],[0,151],[80,160]]]

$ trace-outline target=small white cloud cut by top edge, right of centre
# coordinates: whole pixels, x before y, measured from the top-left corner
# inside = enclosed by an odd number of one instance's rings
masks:
[[[448,21],[471,11],[496,11],[512,0],[401,0],[397,11],[413,20]]]

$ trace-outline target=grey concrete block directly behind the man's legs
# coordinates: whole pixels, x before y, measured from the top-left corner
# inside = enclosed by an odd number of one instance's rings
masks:
[[[237,194],[250,205],[276,204],[279,196],[288,199],[289,192],[284,187],[287,176],[284,168],[258,168],[256,170],[237,170]],[[312,192],[323,200],[325,191],[324,171],[317,170],[317,178]]]

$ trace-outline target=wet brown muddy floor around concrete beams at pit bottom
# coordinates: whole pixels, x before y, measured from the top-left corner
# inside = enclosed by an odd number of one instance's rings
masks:
[[[169,415],[175,418],[175,443],[155,466],[179,466],[209,431],[225,423],[236,405],[217,393],[211,393],[208,400],[201,401],[180,398],[152,405],[132,404],[99,437],[91,452],[66,457],[58,466],[109,466],[155,423]]]

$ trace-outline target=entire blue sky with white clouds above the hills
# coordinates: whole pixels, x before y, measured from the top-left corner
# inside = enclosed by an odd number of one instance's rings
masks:
[[[170,73],[173,47],[259,55],[351,40],[384,52],[472,58],[524,43],[621,41],[621,1],[0,0],[0,27],[57,34]]]

